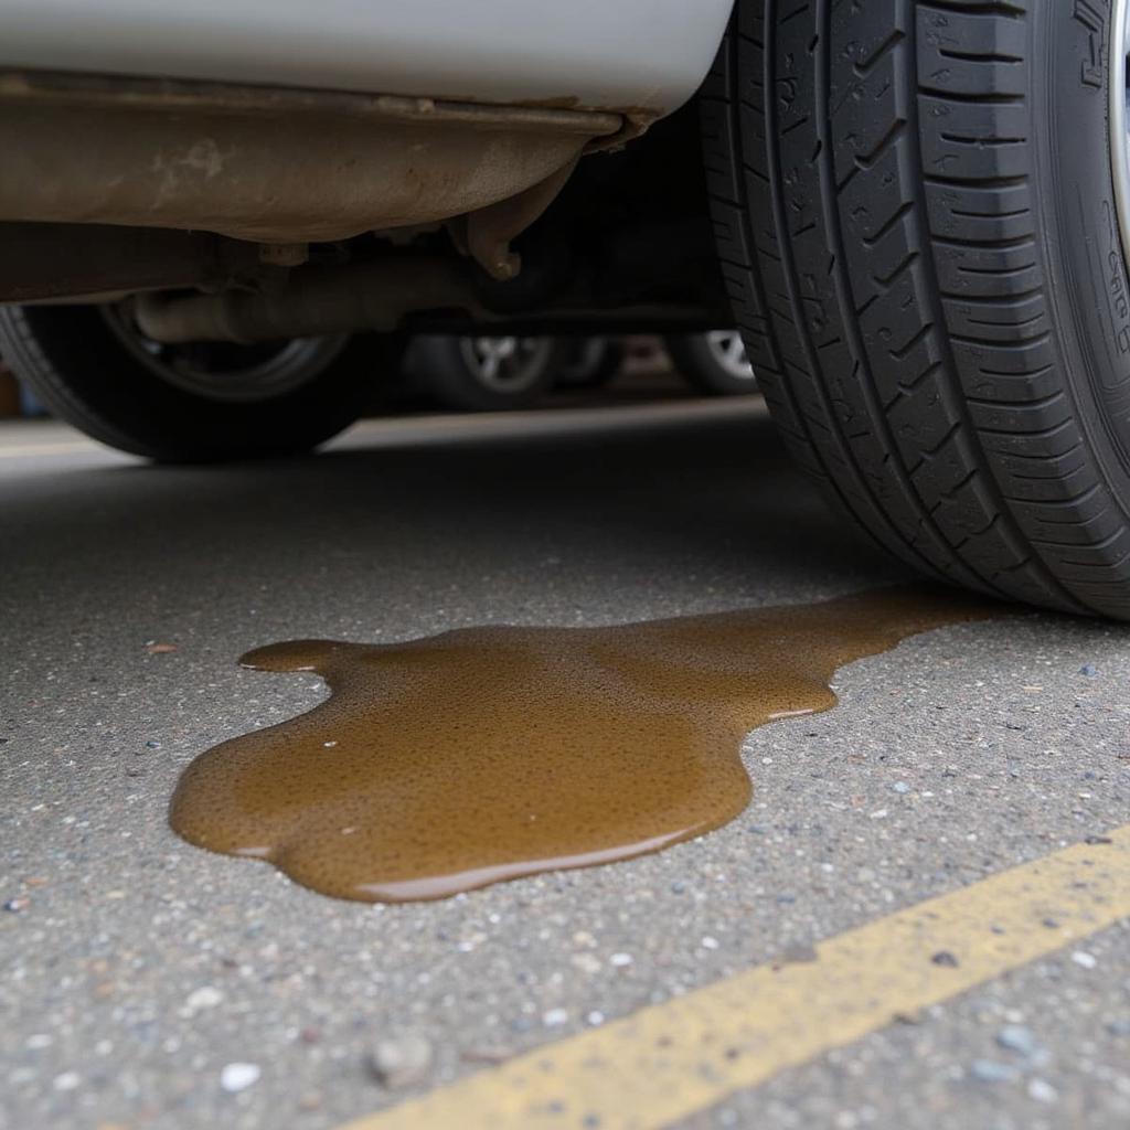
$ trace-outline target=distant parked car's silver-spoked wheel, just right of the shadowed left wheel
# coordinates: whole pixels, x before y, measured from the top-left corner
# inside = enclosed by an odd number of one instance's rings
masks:
[[[505,411],[537,403],[557,380],[567,350],[556,338],[428,336],[412,342],[414,365],[441,403]]]

